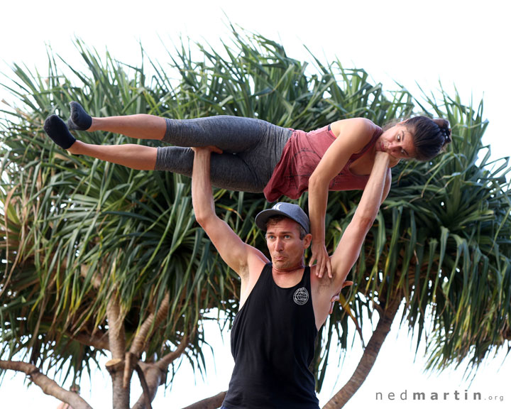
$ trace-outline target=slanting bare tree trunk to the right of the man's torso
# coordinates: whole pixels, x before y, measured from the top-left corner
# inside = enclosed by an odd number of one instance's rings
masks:
[[[362,383],[366,381],[370,370],[373,369],[381,346],[390,332],[390,326],[401,304],[400,295],[396,295],[395,297],[396,298],[392,300],[389,305],[385,306],[383,312],[381,312],[375,332],[373,332],[372,337],[370,337],[367,347],[364,349],[362,359],[358,363],[353,375],[349,381],[346,382],[346,385],[324,405],[323,409],[343,408],[346,402],[351,399],[351,396],[358,391]]]

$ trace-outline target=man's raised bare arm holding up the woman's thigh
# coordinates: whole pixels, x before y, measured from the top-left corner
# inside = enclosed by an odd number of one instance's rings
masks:
[[[243,243],[229,224],[216,216],[209,180],[211,151],[208,148],[194,148],[194,151],[192,203],[195,218],[227,265],[241,278],[247,278],[251,258],[260,258],[263,263],[268,259],[257,249]]]

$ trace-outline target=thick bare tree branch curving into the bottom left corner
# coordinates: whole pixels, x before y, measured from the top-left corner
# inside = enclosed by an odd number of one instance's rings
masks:
[[[0,361],[1,369],[24,372],[31,378],[35,385],[39,386],[46,395],[53,396],[62,402],[71,405],[74,409],[92,409],[92,407],[77,393],[67,391],[59,386],[53,379],[40,373],[37,366],[19,361]]]

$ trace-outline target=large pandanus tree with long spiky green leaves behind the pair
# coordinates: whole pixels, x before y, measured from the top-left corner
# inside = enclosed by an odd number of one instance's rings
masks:
[[[182,356],[204,371],[206,312],[231,322],[238,281],[194,222],[188,178],[142,172],[70,156],[43,132],[49,114],[67,117],[77,100],[95,116],[155,114],[187,119],[252,116],[295,129],[367,117],[377,124],[422,111],[451,122],[453,143],[429,163],[393,169],[392,190],[353,268],[355,285],[341,295],[322,327],[314,370],[322,386],[328,356],[348,347],[348,333],[378,325],[356,372],[327,408],[341,408],[363,382],[404,303],[402,321],[425,342],[429,364],[441,370],[468,357],[476,367],[509,342],[510,193],[507,158],[490,160],[481,143],[486,121],[441,92],[419,102],[405,89],[385,91],[363,70],[338,61],[312,64],[286,55],[278,43],[233,30],[221,50],[181,45],[167,64],[145,56],[133,67],[77,41],[82,65],[49,53],[48,73],[13,65],[4,84],[13,97],[1,126],[0,370],[27,373],[45,393],[89,408],[44,373],[65,371],[79,382],[108,356],[113,408],[130,407],[133,373],[150,408]],[[193,55],[198,53],[200,58]],[[149,67],[148,67],[149,65]],[[126,143],[111,133],[80,133],[92,143]],[[130,141],[133,143],[133,140]],[[137,142],[135,142],[137,143]],[[143,141],[157,146],[158,141]],[[262,195],[215,190],[217,212],[248,243],[264,248],[253,216]],[[331,192],[326,241],[330,250],[348,224],[360,192]],[[307,195],[299,200],[307,205]],[[173,376],[180,372],[172,371]],[[195,407],[216,408],[223,394]],[[194,405],[192,405],[194,406]]]

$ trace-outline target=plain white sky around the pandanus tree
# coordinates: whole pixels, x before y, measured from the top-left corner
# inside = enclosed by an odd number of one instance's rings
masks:
[[[24,62],[45,72],[46,44],[68,62],[79,61],[73,45],[77,36],[100,53],[108,48],[111,55],[123,62],[139,61],[138,40],[151,58],[166,61],[160,39],[169,45],[172,40],[189,36],[192,40],[211,44],[220,38],[229,39],[227,18],[249,31],[256,31],[282,43],[287,54],[307,59],[303,45],[321,60],[339,58],[345,67],[365,69],[385,89],[393,81],[415,90],[415,83],[435,92],[439,81],[446,89],[456,84],[462,101],[479,102],[484,95],[484,114],[490,125],[485,142],[490,143],[494,156],[511,152],[510,131],[505,123],[508,116],[511,72],[509,46],[511,28],[508,21],[510,6],[504,1],[97,1],[81,4],[77,1],[9,1],[1,6],[0,63],[1,73],[9,75],[9,65]],[[16,3],[16,4],[14,4]],[[177,3],[177,4],[175,4]],[[505,4],[505,6],[504,6]],[[159,57],[161,55],[161,58]],[[324,56],[324,58],[323,58]],[[0,82],[3,79],[0,77]],[[416,94],[418,95],[418,94]],[[0,90],[0,100],[4,97]],[[365,340],[368,341],[369,334]],[[154,409],[182,408],[200,398],[225,390],[232,368],[229,334],[226,345],[214,343],[216,369],[211,366],[207,381],[197,383],[191,374],[179,376],[171,391],[160,391]],[[339,369],[337,386],[335,369],[319,396],[326,403],[332,391],[337,391],[351,376],[361,356],[358,340],[348,351],[344,366]],[[463,371],[446,371],[441,376],[422,373],[424,362],[419,356],[414,362],[414,344],[406,330],[392,327],[378,361],[370,376],[348,402],[346,408],[509,408],[511,379],[509,359],[502,364],[503,354],[489,359],[470,384],[463,381]],[[502,367],[500,368],[500,366]],[[181,371],[188,364],[183,363]],[[500,369],[500,371],[499,371]],[[84,379],[84,381],[87,381]],[[93,373],[92,396],[82,384],[82,394],[94,408],[110,406],[109,377]],[[133,382],[133,383],[136,383]],[[454,391],[460,394],[455,400]],[[482,403],[464,400],[464,391],[480,392]],[[407,400],[400,394],[408,391]],[[419,403],[412,401],[412,392],[449,393],[440,399]],[[375,393],[384,396],[395,393],[395,400],[375,400]],[[493,399],[490,400],[490,396]],[[495,396],[502,396],[503,401]],[[2,407],[55,408],[57,400],[45,396],[37,387],[28,390],[23,376],[7,374],[0,386]],[[10,403],[10,404],[9,404]]]

